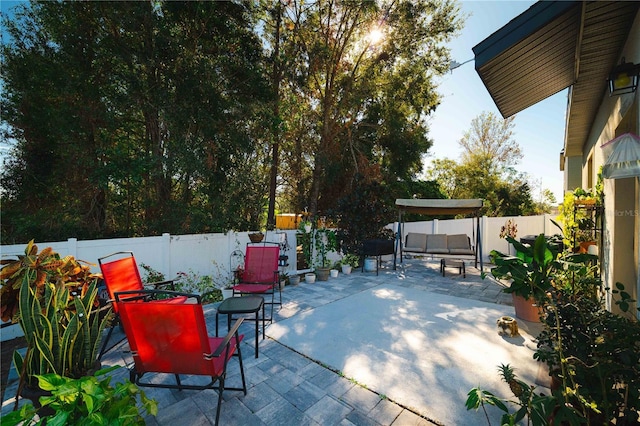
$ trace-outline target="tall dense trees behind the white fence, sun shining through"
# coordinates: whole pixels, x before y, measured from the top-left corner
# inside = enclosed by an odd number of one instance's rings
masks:
[[[3,25],[3,243],[263,227],[274,144],[281,211],[442,196],[417,176],[453,1],[48,1]]]

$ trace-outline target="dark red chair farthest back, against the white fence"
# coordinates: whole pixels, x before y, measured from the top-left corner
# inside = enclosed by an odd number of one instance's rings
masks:
[[[257,294],[271,295],[271,301],[265,300],[271,305],[273,318],[273,305],[282,305],[282,292],[278,284],[278,258],[280,257],[280,245],[277,243],[247,244],[247,252],[244,258],[244,269],[238,277],[238,284],[233,286],[233,295]],[[278,289],[279,301],[275,301],[275,290]]]

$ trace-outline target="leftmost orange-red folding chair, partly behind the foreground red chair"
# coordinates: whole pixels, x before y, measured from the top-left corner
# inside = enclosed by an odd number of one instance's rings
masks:
[[[113,257],[113,260],[105,261],[105,259],[108,259],[110,257]],[[140,278],[138,264],[136,263],[136,259],[133,256],[133,252],[130,251],[119,251],[116,253],[111,253],[110,255],[99,258],[98,263],[100,264],[102,278],[104,279],[104,283],[107,286],[109,299],[112,302],[111,307],[115,315],[113,321],[111,322],[111,327],[109,328],[107,337],[102,343],[100,355],[98,355],[98,359],[101,359],[105,352],[107,352],[107,344],[109,343],[109,339],[111,338],[113,329],[119,324],[118,306],[113,303],[113,301],[115,300],[115,294],[117,292],[127,290],[144,290],[145,286],[153,287],[154,289],[167,286],[170,287],[171,290],[175,290],[175,288],[173,285],[173,280],[143,284],[142,279]],[[172,302],[184,303],[185,300],[185,297],[180,296],[172,299]],[[119,342],[116,342],[115,344],[117,343]]]

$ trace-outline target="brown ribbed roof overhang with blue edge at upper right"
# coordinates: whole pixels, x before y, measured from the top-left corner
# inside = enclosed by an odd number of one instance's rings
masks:
[[[473,48],[503,117],[568,87],[565,156],[581,155],[640,2],[540,1]]]

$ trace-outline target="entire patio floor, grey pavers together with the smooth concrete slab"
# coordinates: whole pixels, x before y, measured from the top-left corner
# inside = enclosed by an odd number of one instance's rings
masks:
[[[439,262],[424,259],[406,259],[397,271],[383,263],[378,276],[356,270],[287,286],[282,309],[267,328],[267,339],[260,340],[259,358],[253,357],[253,325],[241,328],[248,394],[224,393],[220,423],[485,423],[482,413],[464,407],[472,387],[508,396],[496,370],[501,363],[511,363],[531,383],[538,374],[532,358],[536,325],[519,321],[522,336],[515,339],[497,334],[496,319],[513,315],[501,288],[491,278],[482,280],[473,267],[466,278],[455,270],[442,277]],[[216,307],[205,306],[210,333]],[[127,349],[125,341],[103,365],[130,363]],[[237,372],[230,365],[230,386],[239,382]],[[125,368],[114,372],[114,380],[125,378]],[[15,386],[9,385],[7,396],[15,394]],[[145,392],[159,403],[149,425],[213,424],[214,391]],[[3,413],[12,407],[5,401]]]

